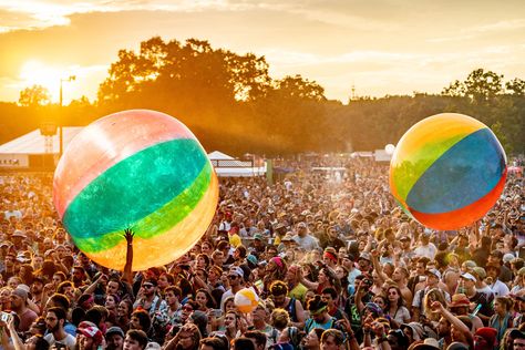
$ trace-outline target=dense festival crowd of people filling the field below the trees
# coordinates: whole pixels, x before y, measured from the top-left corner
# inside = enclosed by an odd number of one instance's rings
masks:
[[[435,231],[395,204],[388,165],[277,165],[294,172],[220,179],[200,241],[132,274],[76,249],[52,174],[0,175],[1,348],[525,349],[523,178],[480,222]],[[247,313],[243,288],[259,297]]]

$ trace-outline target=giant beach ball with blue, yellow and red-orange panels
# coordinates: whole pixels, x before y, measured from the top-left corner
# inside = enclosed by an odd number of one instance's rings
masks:
[[[506,173],[505,152],[486,125],[443,113],[422,120],[401,137],[390,163],[390,189],[424,226],[457,229],[492,208]]]

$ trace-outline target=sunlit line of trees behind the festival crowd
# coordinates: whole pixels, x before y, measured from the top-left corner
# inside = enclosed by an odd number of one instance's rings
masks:
[[[264,56],[214,49],[207,41],[141,43],[121,50],[101,83],[97,100],[82,97],[62,109],[42,86],[0,103],[0,142],[55,121],[86,125],[110,113],[152,109],[177,117],[206,150],[284,155],[350,152],[395,144],[418,121],[442,112],[471,115],[488,125],[507,154],[525,151],[525,81],[477,69],[440,94],[414,93],[348,104],[301,75],[272,79]]]

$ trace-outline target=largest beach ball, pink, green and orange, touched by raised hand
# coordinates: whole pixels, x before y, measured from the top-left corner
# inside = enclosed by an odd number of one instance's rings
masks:
[[[62,155],[53,200],[75,245],[123,269],[124,229],[135,233],[133,270],[168,264],[203,236],[218,184],[192,132],[176,119],[133,110],[84,127]]]

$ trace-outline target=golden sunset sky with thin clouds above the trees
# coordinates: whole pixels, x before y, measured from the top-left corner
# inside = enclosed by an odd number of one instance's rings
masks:
[[[0,0],[0,101],[32,84],[96,96],[120,49],[154,35],[265,55],[328,99],[439,93],[476,68],[525,79],[525,1]]]

